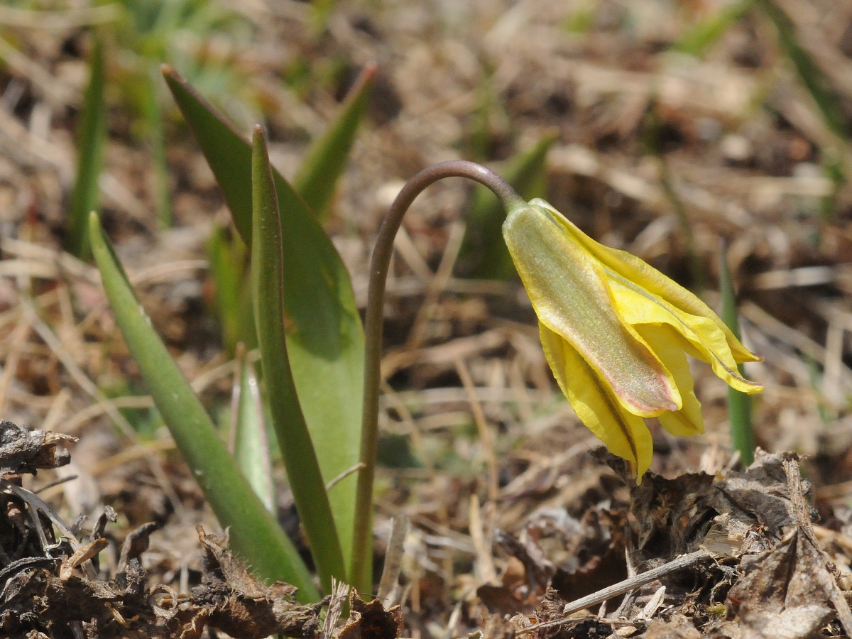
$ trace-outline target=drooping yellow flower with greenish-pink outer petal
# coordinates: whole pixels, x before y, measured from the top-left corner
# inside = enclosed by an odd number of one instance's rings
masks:
[[[759,361],[698,297],[623,250],[598,244],[542,199],[519,203],[503,234],[544,354],[583,423],[638,481],[653,444],[643,417],[672,435],[704,432],[686,354],[734,389],[763,390],[737,364]]]

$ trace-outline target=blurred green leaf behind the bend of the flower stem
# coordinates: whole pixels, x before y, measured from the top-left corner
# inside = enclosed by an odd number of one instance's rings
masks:
[[[519,153],[500,170],[500,175],[515,187],[521,198],[544,196],[544,164],[556,135],[545,135],[525,153]],[[506,211],[486,187],[477,185],[467,215],[467,229],[459,260],[475,278],[509,279],[515,265],[503,241]]]

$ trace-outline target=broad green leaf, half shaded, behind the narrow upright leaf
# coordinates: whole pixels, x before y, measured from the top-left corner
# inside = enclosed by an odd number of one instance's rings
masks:
[[[166,82],[199,139],[233,220],[251,246],[251,147],[200,95],[168,67]],[[273,170],[284,247],[287,352],[323,479],[329,482],[359,461],[364,390],[364,331],[343,261],[314,214]],[[331,509],[349,561],[356,476],[338,482]]]

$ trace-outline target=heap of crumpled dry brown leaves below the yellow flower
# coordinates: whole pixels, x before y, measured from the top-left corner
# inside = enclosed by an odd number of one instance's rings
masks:
[[[629,481],[621,460],[609,461]],[[722,477],[651,473],[624,510],[589,509],[579,527],[542,517],[519,537],[498,535],[517,569],[478,594],[502,613],[538,602],[507,630],[535,639],[848,636],[849,559],[835,533],[814,526],[808,487],[792,453],[758,452]],[[573,547],[561,560],[544,550],[560,536],[556,547]]]

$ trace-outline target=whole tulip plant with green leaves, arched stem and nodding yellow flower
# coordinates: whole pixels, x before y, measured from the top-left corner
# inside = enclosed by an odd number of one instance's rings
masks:
[[[314,174],[301,181],[311,185],[304,192],[271,167],[261,128],[250,144],[175,72],[165,75],[250,250],[262,387],[321,590],[329,591],[332,578],[364,595],[372,589],[385,279],[402,217],[437,180],[467,177],[498,196],[505,243],[538,314],[556,381],[586,426],[630,463],[637,482],[653,453],[644,417],[658,417],[674,435],[703,432],[686,354],[709,362],[734,389],[761,389],[737,369],[759,358],[704,302],[635,256],[588,238],[544,200],[527,202],[492,170],[461,160],[421,171],[392,204],[371,257],[362,329],[348,273],[320,211],[308,204],[328,202],[328,193],[310,189],[333,184],[329,167],[342,167],[352,122],[332,127]],[[302,559],[153,330],[95,213],[89,237],[118,326],[178,449],[230,529],[233,549],[262,579],[284,579],[302,601],[318,600]]]

